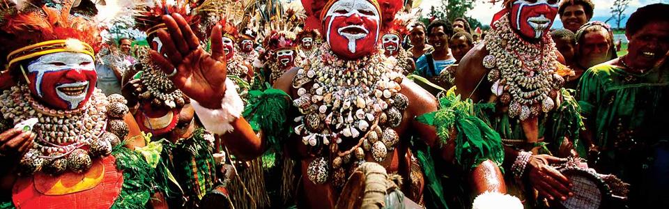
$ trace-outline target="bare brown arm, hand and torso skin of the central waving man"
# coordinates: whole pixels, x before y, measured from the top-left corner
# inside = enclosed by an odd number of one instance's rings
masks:
[[[220,56],[219,52],[222,52],[222,47],[220,46],[220,36],[216,36],[217,33],[220,34],[220,26],[216,26],[213,29],[212,36],[216,38],[212,39],[212,54],[208,54],[203,52],[203,50],[197,46],[197,42],[199,41],[197,38],[194,38],[192,31],[190,31],[190,27],[188,27],[185,20],[183,20],[183,17],[178,14],[174,14],[171,16],[164,16],[163,20],[166,22],[170,31],[169,34],[166,31],[158,32],[158,35],[161,36],[161,40],[166,40],[164,41],[165,47],[175,50],[183,48],[184,50],[174,52],[168,51],[167,56],[169,58],[164,58],[160,54],[151,52],[153,59],[157,61],[157,63],[163,65],[163,69],[171,69],[168,67],[178,66],[178,73],[171,79],[176,84],[176,86],[178,86],[184,93],[189,95],[190,98],[198,101],[202,100],[203,102],[207,100],[218,101],[211,103],[201,103],[201,105],[210,109],[220,108],[220,100],[224,96],[224,90],[206,86],[207,84],[220,84],[225,79],[225,63],[224,60],[218,57]],[[220,47],[220,49],[218,49],[218,47]],[[182,56],[182,54],[185,56]],[[185,59],[173,59],[170,56],[184,57]],[[210,63],[202,64],[207,62]],[[281,89],[282,91],[291,95],[293,98],[296,98],[297,89],[293,88],[291,85],[296,72],[296,69],[286,72],[284,75],[282,75],[282,77],[277,79],[274,87]],[[210,76],[199,77],[199,75],[203,74]],[[436,99],[428,92],[422,90],[420,86],[413,84],[413,82],[402,82],[401,86],[401,93],[406,95],[408,100],[411,101],[406,111],[404,111],[404,118],[414,118],[415,116],[420,116],[431,111],[436,111],[438,105]],[[202,90],[199,90],[198,88],[202,88]],[[289,116],[289,118],[292,117]],[[254,132],[252,132],[250,129],[248,123],[243,121],[243,118],[238,118],[236,121],[241,122],[233,122],[232,125],[235,127],[235,130],[222,137],[223,143],[226,144],[227,148],[229,148],[230,153],[236,156],[248,157],[247,159],[252,159],[261,155],[265,146],[264,140],[261,140],[264,138],[264,134],[261,132],[259,134],[261,137],[256,137]],[[247,130],[251,130],[251,132],[247,133]],[[425,140],[426,144],[429,146],[437,145],[438,138],[435,132],[435,128],[418,121],[403,120],[399,127],[395,128],[395,130],[400,136],[409,134],[409,131],[420,133],[421,138]],[[306,152],[307,146],[302,144],[301,139],[295,138],[289,139],[286,143],[287,148],[293,148],[287,151],[289,153],[294,153],[294,155],[297,155],[295,157],[301,159],[300,164],[302,173],[306,173],[309,162],[314,160],[314,157],[310,157]],[[444,152],[452,153],[452,149],[444,150]],[[386,157],[386,160],[380,162],[380,164],[383,165],[389,172],[398,171],[399,173],[403,173],[406,170],[406,166],[403,167],[403,164],[407,164],[406,162],[408,162],[408,157],[410,157],[410,152],[408,152],[407,141],[401,141],[399,146],[397,146],[394,151],[389,153],[388,157]],[[368,161],[374,162],[374,160],[371,159],[371,153],[367,153],[365,158]],[[475,169],[471,173],[472,185],[475,185],[475,188],[485,189],[476,191],[476,194],[480,194],[485,191],[505,192],[505,185],[503,180],[501,180],[502,178],[499,169],[496,167],[494,169],[490,169],[488,164],[483,164],[480,167],[482,167],[482,169]],[[405,178],[408,178],[408,176],[404,176]],[[334,192],[334,188],[331,187],[329,183],[315,185],[307,179],[308,178],[302,178],[302,189],[304,191],[308,191],[309,194],[318,195],[303,196],[305,199],[300,201],[300,206],[305,206],[307,208],[333,208],[338,196],[338,194],[335,194],[336,192]]]

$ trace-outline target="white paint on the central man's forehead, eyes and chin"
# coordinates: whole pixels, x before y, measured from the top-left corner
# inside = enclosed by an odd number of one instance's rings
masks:
[[[362,18],[367,18],[369,20],[373,20],[376,22],[376,37],[374,40],[378,40],[378,33],[379,33],[379,22],[380,22],[380,15],[378,14],[378,11],[376,10],[376,7],[372,5],[369,1],[360,1],[360,0],[341,0],[337,1],[328,10],[328,13],[325,15],[325,17],[331,16],[332,18],[330,19],[330,22],[328,22],[328,31],[326,31],[325,37],[328,38],[328,43],[332,45],[332,42],[330,42],[330,33],[332,33],[332,22],[333,20],[337,19],[337,17],[351,17],[353,15],[357,15]],[[360,31],[359,33],[349,33],[347,31]],[[344,38],[348,39],[348,51],[351,53],[355,53],[355,40],[360,40],[362,38],[365,38],[369,35],[369,31],[365,29],[361,25],[348,25],[348,26],[343,26],[337,29],[337,33],[339,33],[340,36],[343,36]]]

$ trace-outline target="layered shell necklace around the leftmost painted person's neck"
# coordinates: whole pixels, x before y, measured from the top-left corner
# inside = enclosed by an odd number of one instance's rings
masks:
[[[43,170],[56,175],[66,169],[82,173],[91,167],[92,157],[109,155],[128,134],[123,121],[128,107],[121,95],[107,98],[95,88],[90,100],[76,112],[56,111],[33,102],[27,86],[13,86],[0,95],[5,120],[20,123],[38,118],[31,130],[37,138],[20,161],[21,174]]]

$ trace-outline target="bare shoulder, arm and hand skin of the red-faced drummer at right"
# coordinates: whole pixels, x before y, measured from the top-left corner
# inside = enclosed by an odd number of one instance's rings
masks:
[[[494,98],[491,95],[490,82],[481,82],[484,76],[488,75],[489,69],[484,68],[483,58],[489,54],[484,42],[476,45],[460,61],[459,67],[455,73],[456,93],[463,96],[463,99],[471,98],[474,102],[491,102]],[[558,52],[558,61],[564,63],[564,58]],[[480,83],[480,85],[479,85]],[[530,118],[521,122],[525,137],[528,141],[538,141],[539,139],[539,121],[537,118]],[[512,148],[505,148],[505,165],[512,165],[518,156],[518,151]],[[528,162],[528,171],[526,171],[531,185],[539,191],[539,194],[548,199],[567,199],[571,196],[569,191],[569,180],[562,173],[553,169],[548,164],[565,162],[566,159],[553,157],[550,155],[532,155]]]

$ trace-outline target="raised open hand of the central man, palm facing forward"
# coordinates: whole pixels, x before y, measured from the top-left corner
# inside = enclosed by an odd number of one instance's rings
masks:
[[[153,62],[202,107],[220,109],[227,77],[221,26],[215,26],[211,33],[210,54],[200,46],[200,40],[181,15],[164,15],[162,20],[167,31],[161,29],[157,35],[167,57],[151,50]]]

